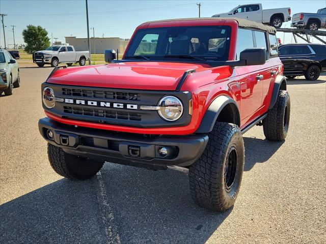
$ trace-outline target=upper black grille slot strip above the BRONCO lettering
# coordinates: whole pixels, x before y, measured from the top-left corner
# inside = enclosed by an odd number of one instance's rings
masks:
[[[62,95],[87,97],[87,98],[106,98],[106,99],[117,99],[117,100],[140,101],[140,94],[138,93],[108,92],[103,90],[62,88]]]

